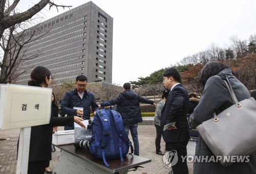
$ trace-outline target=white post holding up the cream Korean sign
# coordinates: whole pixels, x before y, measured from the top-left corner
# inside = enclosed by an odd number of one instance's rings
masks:
[[[16,174],[28,173],[31,127],[20,128]]]

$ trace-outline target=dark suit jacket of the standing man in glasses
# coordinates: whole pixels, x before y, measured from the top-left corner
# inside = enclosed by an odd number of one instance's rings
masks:
[[[164,125],[176,121],[176,130],[166,130],[163,132],[165,142],[185,142],[189,139],[189,128],[186,119],[189,108],[189,97],[186,89],[181,85],[176,85],[166,98],[164,108],[161,113],[161,129]]]

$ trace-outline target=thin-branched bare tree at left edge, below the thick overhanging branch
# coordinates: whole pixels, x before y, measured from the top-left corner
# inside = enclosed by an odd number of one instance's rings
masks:
[[[27,46],[36,40],[44,37],[47,32],[41,33],[37,30],[37,26],[30,29],[27,28],[31,21],[15,24],[9,29],[5,30],[2,38],[0,38],[0,46],[3,49],[3,57],[0,60],[0,83],[13,83],[15,79],[30,70],[33,66],[27,68],[20,68],[19,65],[27,60],[38,57],[41,52],[35,54],[27,53]],[[22,30],[17,32],[17,30]]]

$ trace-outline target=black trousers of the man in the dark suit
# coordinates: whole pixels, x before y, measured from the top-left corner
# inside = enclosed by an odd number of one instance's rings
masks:
[[[185,156],[187,155],[187,143],[188,141],[181,143],[167,143],[168,151],[177,151],[178,155],[177,164],[172,165],[174,174],[188,174],[187,158],[185,158]],[[183,162],[181,156],[184,158]]]

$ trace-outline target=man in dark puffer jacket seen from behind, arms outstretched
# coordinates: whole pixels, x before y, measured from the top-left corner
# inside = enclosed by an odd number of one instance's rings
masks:
[[[131,130],[134,143],[134,155],[139,156],[137,128],[138,122],[142,122],[140,103],[151,104],[154,107],[156,107],[156,104],[154,104],[154,101],[141,97],[136,92],[132,91],[130,83],[123,84],[123,92],[106,102],[110,103],[112,106],[117,105],[116,111],[122,116],[124,131],[127,136],[129,135],[129,130]],[[101,103],[100,106],[103,107],[106,102]]]

